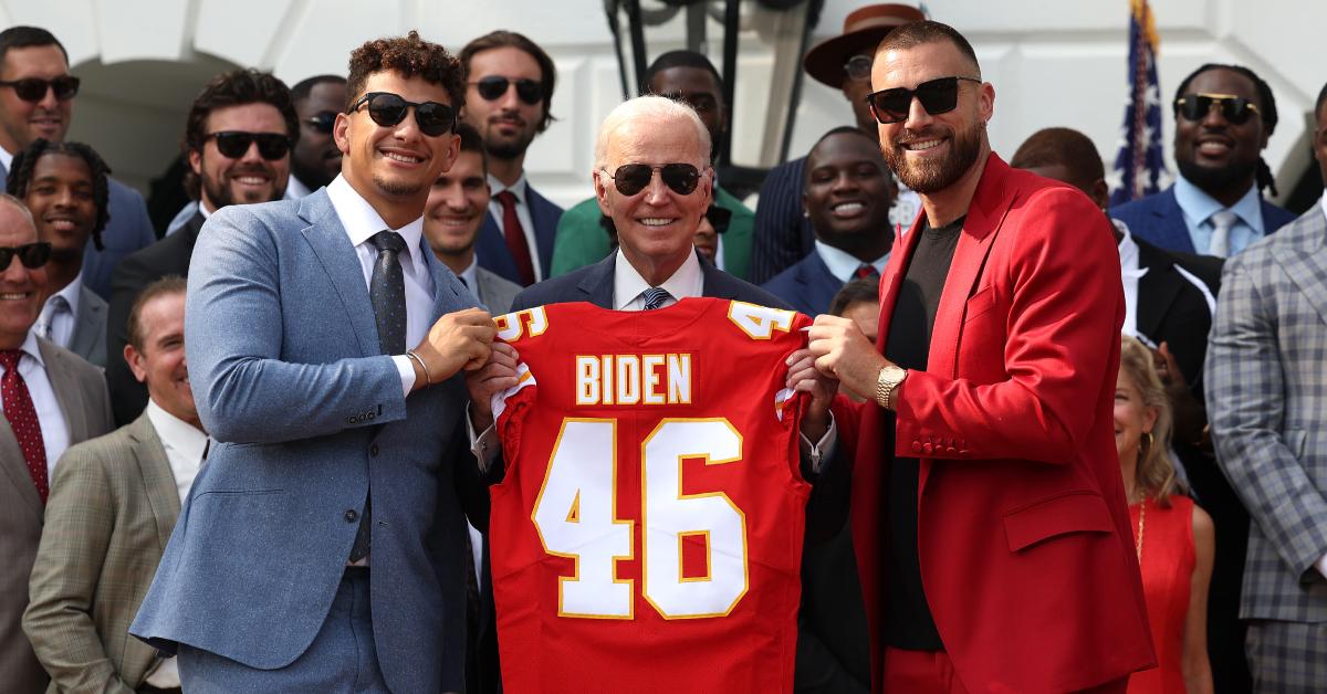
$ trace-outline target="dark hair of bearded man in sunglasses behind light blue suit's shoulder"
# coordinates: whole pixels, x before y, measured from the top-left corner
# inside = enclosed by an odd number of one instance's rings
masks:
[[[184,139],[180,142],[180,151],[186,161],[188,154],[202,151],[207,142],[207,117],[216,109],[228,106],[244,106],[248,104],[268,104],[281,113],[285,121],[285,133],[293,145],[300,139],[300,117],[295,113],[295,101],[291,100],[291,89],[285,82],[277,80],[272,73],[259,72],[253,68],[230,70],[212,77],[207,86],[194,100],[188,109],[188,118],[184,121]],[[184,190],[188,196],[199,199],[198,175],[190,170],[184,174]]]

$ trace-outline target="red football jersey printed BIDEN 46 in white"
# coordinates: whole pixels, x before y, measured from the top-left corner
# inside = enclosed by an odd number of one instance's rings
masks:
[[[784,360],[811,321],[721,299],[508,313],[490,547],[506,691],[792,691],[809,486]]]

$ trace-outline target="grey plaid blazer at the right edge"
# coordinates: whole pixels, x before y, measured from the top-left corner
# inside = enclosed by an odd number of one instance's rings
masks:
[[[1322,206],[1231,257],[1221,284],[1205,378],[1217,459],[1253,518],[1239,616],[1327,621]]]

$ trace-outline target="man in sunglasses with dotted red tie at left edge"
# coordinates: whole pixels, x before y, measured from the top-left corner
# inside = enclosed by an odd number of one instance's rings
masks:
[[[69,445],[111,429],[101,370],[32,330],[49,257],[28,208],[0,194],[0,687],[15,694],[48,679],[19,621],[50,474]]]

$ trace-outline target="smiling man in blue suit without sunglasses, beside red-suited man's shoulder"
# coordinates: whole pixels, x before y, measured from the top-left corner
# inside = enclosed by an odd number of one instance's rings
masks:
[[[816,230],[811,253],[764,283],[792,308],[816,316],[852,279],[880,279],[894,232],[889,207],[894,179],[874,137],[836,127],[807,155],[802,200]]]

